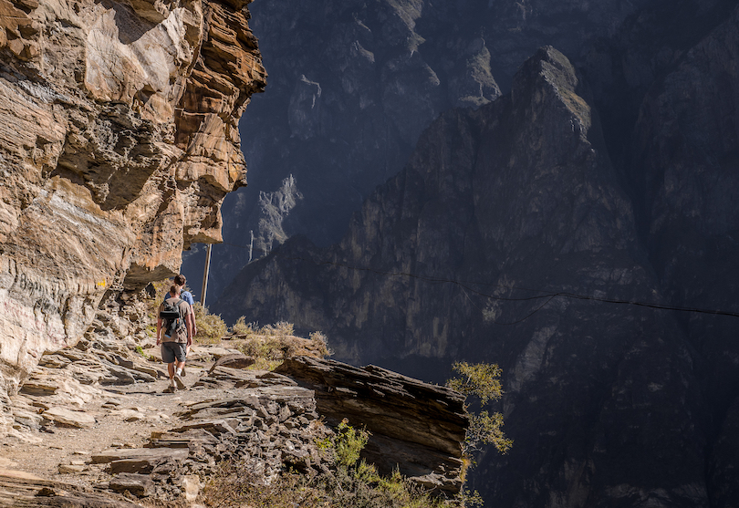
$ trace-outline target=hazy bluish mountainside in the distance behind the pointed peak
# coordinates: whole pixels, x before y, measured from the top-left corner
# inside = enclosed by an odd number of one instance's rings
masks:
[[[276,0],[254,5],[255,34],[269,63],[270,92],[242,126],[250,186],[226,199],[224,237],[213,251],[209,293],[220,295],[248,262],[260,192],[293,175],[305,199],[284,214],[286,236],[338,242],[351,213],[375,186],[401,171],[423,129],[442,111],[479,108],[508,91],[538,47],[575,62],[590,41],[618,34],[655,0]],[[666,9],[670,10],[670,9]],[[600,56],[601,65],[606,57]],[[618,65],[614,61],[613,65]],[[254,230],[271,235],[270,223]],[[265,233],[263,233],[265,232]],[[255,256],[269,252],[260,251]],[[203,255],[183,269],[203,271]]]

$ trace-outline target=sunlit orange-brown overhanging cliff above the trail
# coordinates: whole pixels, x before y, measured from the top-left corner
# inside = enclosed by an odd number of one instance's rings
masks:
[[[0,370],[16,389],[111,287],[221,238],[265,69],[229,2],[0,1]]]

